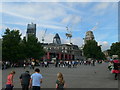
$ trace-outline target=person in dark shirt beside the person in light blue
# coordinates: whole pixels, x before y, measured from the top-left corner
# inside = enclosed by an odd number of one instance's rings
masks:
[[[25,73],[22,73],[20,75],[20,83],[22,86],[22,90],[28,90],[29,82],[30,82],[30,74],[29,71],[26,71]]]

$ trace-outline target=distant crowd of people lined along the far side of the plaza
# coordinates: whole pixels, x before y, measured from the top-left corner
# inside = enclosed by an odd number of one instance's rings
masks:
[[[7,69],[7,68],[16,68],[16,67],[23,67],[24,69],[26,67],[29,67],[30,69],[34,69],[35,66],[40,66],[40,67],[49,67],[49,66],[55,66],[55,67],[68,67],[68,68],[75,68],[78,65],[90,65],[90,66],[95,66],[96,65],[96,60],[69,60],[69,61],[56,61],[54,63],[51,63],[50,61],[42,61],[42,62],[35,62],[35,61],[29,61],[29,62],[22,62],[22,63],[11,63],[9,61],[3,61],[2,62],[2,70]],[[99,62],[98,62],[99,63]]]

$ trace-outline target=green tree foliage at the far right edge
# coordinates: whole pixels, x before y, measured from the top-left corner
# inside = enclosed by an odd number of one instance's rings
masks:
[[[120,58],[120,42],[112,43],[110,50],[109,50],[110,56],[112,55],[118,55]]]

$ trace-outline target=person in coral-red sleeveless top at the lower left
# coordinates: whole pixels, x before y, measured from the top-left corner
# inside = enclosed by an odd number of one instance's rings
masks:
[[[7,82],[6,82],[6,89],[5,90],[13,90],[14,75],[15,75],[15,71],[11,71],[10,74],[7,76]]]

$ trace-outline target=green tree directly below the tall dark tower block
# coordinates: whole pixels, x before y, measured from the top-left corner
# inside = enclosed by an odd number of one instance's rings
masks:
[[[40,42],[34,35],[28,35],[27,41],[24,39],[24,44],[26,45],[26,56],[27,58],[34,58],[34,59],[40,59],[45,51],[43,50],[43,47],[41,46]]]

